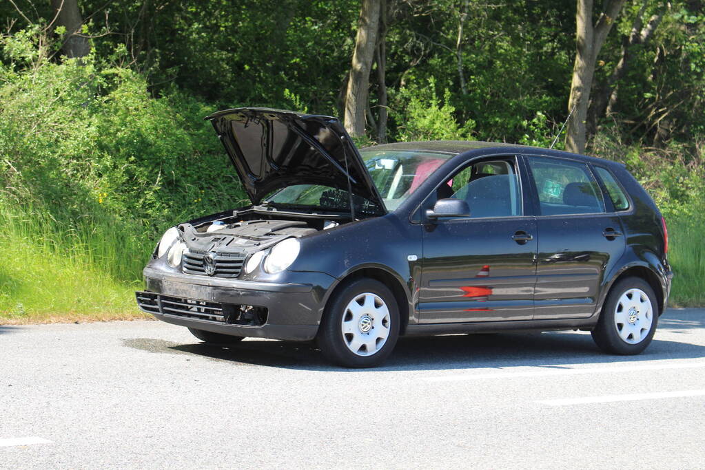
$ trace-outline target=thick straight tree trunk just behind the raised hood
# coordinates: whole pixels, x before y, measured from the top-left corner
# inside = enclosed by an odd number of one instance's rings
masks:
[[[345,130],[352,136],[364,135],[364,113],[369,99],[369,72],[379,30],[381,0],[362,0],[355,37],[355,52],[345,95]]]

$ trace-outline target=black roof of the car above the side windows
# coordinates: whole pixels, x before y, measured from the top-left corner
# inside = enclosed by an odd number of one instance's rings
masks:
[[[484,142],[484,141],[417,141],[417,142],[396,142],[394,144],[381,144],[361,148],[360,151],[369,150],[388,150],[388,151],[431,151],[448,153],[450,155],[459,155],[468,151],[478,151],[477,154],[483,153],[480,151],[496,151],[504,152],[510,148],[515,148],[516,153],[523,155],[545,155],[558,158],[571,158],[572,160],[582,160],[586,163],[601,163],[601,164],[616,164],[622,165],[612,160],[603,158],[591,157],[588,155],[580,155],[579,153],[570,153],[561,150],[553,150],[551,148],[531,147],[518,144],[506,144],[503,142]],[[623,166],[623,165],[622,165]]]

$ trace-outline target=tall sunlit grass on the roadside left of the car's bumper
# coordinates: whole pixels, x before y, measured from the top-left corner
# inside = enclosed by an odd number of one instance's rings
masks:
[[[0,201],[0,323],[146,317],[133,292],[147,242],[109,222],[96,215],[66,227]]]

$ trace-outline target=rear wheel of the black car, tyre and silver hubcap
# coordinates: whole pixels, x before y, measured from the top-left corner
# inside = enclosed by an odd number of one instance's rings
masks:
[[[618,281],[608,293],[592,339],[608,354],[639,354],[654,338],[657,305],[654,289],[643,279]]]

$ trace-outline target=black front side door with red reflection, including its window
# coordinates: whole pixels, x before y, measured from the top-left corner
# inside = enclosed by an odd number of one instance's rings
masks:
[[[455,174],[453,198],[470,217],[425,221],[419,322],[489,322],[533,317],[534,217],[524,216],[514,157]]]

